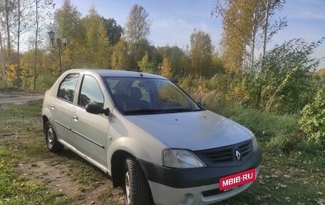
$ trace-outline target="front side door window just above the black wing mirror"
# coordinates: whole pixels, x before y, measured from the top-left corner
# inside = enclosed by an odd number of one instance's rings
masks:
[[[103,106],[104,97],[96,79],[93,76],[86,75],[83,77],[78,105],[86,107],[86,105],[90,103],[100,104]]]

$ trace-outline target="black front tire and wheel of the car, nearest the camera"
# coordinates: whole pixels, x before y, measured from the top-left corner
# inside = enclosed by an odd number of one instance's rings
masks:
[[[126,205],[151,205],[153,199],[150,187],[140,164],[127,156],[123,171],[123,192]]]

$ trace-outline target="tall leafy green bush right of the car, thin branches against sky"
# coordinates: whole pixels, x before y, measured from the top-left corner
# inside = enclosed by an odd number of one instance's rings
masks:
[[[324,38],[307,44],[303,39],[293,39],[259,59],[246,86],[254,104],[262,111],[280,114],[303,109],[314,94],[311,71],[319,65],[319,59],[311,54],[322,41]]]

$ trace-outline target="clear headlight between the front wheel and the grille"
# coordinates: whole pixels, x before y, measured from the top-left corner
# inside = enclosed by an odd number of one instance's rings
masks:
[[[173,168],[195,168],[204,167],[205,163],[192,151],[186,149],[165,149],[163,151],[165,166]]]

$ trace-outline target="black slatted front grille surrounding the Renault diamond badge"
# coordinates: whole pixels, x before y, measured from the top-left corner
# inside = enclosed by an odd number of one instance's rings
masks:
[[[236,150],[239,150],[242,154],[240,160],[235,158]],[[253,154],[253,144],[252,140],[249,139],[230,146],[195,151],[195,154],[210,167],[238,166],[244,163],[244,161],[249,159],[249,156]]]

